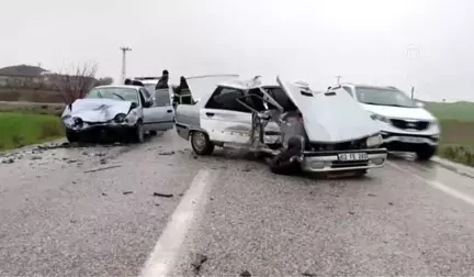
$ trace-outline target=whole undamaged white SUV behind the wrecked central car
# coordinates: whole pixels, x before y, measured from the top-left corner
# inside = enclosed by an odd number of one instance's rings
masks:
[[[416,153],[421,160],[436,154],[441,129],[422,102],[395,87],[345,84],[339,90],[347,91],[371,113],[388,151]]]

